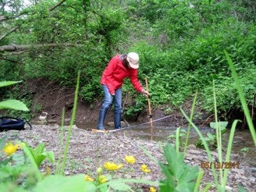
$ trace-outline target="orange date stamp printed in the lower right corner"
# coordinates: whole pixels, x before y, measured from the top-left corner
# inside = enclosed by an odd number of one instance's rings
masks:
[[[201,162],[201,169],[239,169],[240,162]]]

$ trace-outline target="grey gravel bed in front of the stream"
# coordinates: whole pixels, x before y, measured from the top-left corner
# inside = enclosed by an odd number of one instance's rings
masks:
[[[63,137],[66,138],[68,126],[65,126]],[[161,180],[165,178],[159,166],[145,155],[143,148],[153,155],[158,161],[165,162],[162,147],[164,142],[156,142],[151,140],[140,140],[137,137],[131,137],[128,134],[129,130],[118,131],[115,133],[92,133],[91,131],[80,129],[73,126],[73,132],[69,140],[69,151],[66,162],[65,174],[90,174],[95,173],[98,167],[102,167],[104,162],[123,163],[126,166],[124,157],[133,155],[136,158],[136,163],[131,165],[133,171],[123,172],[122,169],[116,172],[116,177],[123,176],[124,178],[133,178],[144,180]],[[44,142],[47,151],[55,153],[55,163],[44,162],[41,166],[41,172],[45,172],[48,166],[52,173],[55,172],[55,165],[58,162],[59,152],[65,145],[65,140],[59,140],[60,131],[58,125],[33,125],[32,130],[9,130],[0,132],[0,137],[7,136],[7,140],[26,141],[30,146],[34,147],[41,142]],[[213,157],[216,157],[216,152],[212,152]],[[240,155],[232,155],[233,162],[240,162],[239,169],[229,169],[229,190],[238,191],[237,185],[244,187],[247,191],[255,190],[256,168],[250,165],[243,164],[243,157]],[[201,169],[201,162],[208,162],[207,154],[204,150],[195,148],[190,145],[187,149],[185,162],[190,165],[198,166]],[[140,165],[146,164],[151,172],[145,174],[141,172]],[[204,176],[201,183],[214,183],[212,170],[204,169]],[[202,188],[205,184],[202,185]],[[144,191],[148,191],[147,187]],[[210,191],[215,191],[211,189]]]

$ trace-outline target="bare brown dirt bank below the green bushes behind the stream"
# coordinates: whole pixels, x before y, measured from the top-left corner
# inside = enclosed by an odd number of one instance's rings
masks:
[[[52,123],[60,123],[62,118],[62,109],[65,108],[66,111],[66,120],[70,119],[72,109],[73,109],[73,99],[74,99],[74,89],[65,88],[59,86],[55,82],[43,80],[43,79],[34,79],[27,82],[27,87],[30,92],[33,93],[33,103],[31,110],[34,113],[35,121],[38,120],[38,117],[44,115],[44,112],[47,114],[48,121]],[[123,95],[125,97],[125,95]],[[77,123],[96,123],[98,120],[98,112],[101,107],[101,99],[94,101],[93,103],[87,103],[83,99],[79,98],[77,101],[76,109],[76,122]],[[146,99],[146,98],[145,98]],[[192,105],[192,99],[183,104],[184,110],[189,113]],[[123,100],[125,100],[123,98]],[[130,101],[133,103],[133,101]],[[164,107],[158,106],[152,108],[153,119],[160,119],[170,114],[165,114]],[[173,112],[169,118],[162,119],[157,123],[165,124],[168,126],[184,126],[187,124],[187,120],[180,113],[180,109],[176,109],[170,106]],[[200,110],[199,108],[196,110]],[[199,125],[207,125],[212,120],[212,116],[209,116],[205,112],[197,112],[200,116],[197,116],[197,119],[194,119],[194,123]],[[141,112],[135,120],[137,123],[148,122],[148,108],[145,106],[144,111]],[[130,119],[127,119],[128,121]],[[108,112],[105,122],[113,121],[113,112]]]

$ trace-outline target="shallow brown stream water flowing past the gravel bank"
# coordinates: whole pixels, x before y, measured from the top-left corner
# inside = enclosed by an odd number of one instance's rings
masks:
[[[83,124],[76,123],[76,126],[81,129],[95,129],[95,124]],[[112,127],[107,127],[112,128]],[[177,127],[174,126],[150,126],[150,125],[142,125],[136,126],[136,124],[130,124],[130,128],[128,127],[125,130],[119,130],[119,133],[123,133],[126,137],[136,137],[142,140],[155,140],[159,142],[165,142],[169,140],[171,143],[175,143],[175,134]],[[206,136],[207,133],[215,134],[215,130],[210,127],[200,127],[201,133]],[[180,128],[181,133],[183,133],[183,137],[181,137],[181,142],[184,142],[186,139],[187,128]],[[116,133],[116,132],[113,132]],[[197,132],[193,127],[190,128],[190,136],[188,140],[188,144],[195,144],[199,139]],[[229,130],[222,135],[222,146],[225,149],[229,140]],[[226,152],[225,152],[226,153]],[[251,137],[251,133],[249,130],[239,130],[236,129],[235,136],[233,138],[233,146],[232,153],[243,155],[244,163],[247,163],[253,167],[256,167],[256,148],[254,147],[254,142]]]

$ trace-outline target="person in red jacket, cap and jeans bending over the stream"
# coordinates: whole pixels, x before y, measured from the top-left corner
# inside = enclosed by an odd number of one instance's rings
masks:
[[[148,91],[140,85],[137,79],[137,69],[139,68],[139,55],[136,52],[116,55],[105,68],[101,76],[101,85],[104,92],[104,101],[98,116],[98,130],[105,130],[104,120],[108,108],[114,99],[114,124],[115,129],[121,128],[122,118],[122,85],[125,78],[130,78],[133,87],[148,97]]]

